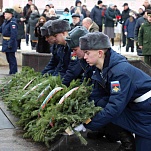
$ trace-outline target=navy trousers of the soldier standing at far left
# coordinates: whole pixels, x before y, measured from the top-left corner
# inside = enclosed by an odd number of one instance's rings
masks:
[[[15,52],[6,52],[6,59],[9,63],[9,74],[15,74],[17,72],[17,61]]]

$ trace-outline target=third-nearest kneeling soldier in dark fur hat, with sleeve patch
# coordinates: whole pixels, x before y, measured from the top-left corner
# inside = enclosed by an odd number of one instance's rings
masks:
[[[69,22],[61,19],[57,19],[52,21],[51,28],[49,28],[50,32],[53,32],[54,37],[56,38],[56,44],[63,45],[63,49],[60,50],[63,52],[62,58],[60,59],[61,69],[64,69],[65,74],[63,78],[63,84],[66,86],[70,85],[70,82],[74,79],[81,78],[81,71],[79,59],[72,49],[67,45],[65,40],[68,37],[68,25],[66,24]],[[63,30],[63,28],[65,30]],[[78,67],[77,67],[78,66]]]

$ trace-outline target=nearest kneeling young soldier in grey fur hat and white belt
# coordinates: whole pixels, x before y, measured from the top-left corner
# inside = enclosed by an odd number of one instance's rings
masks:
[[[108,36],[101,32],[81,37],[80,48],[87,63],[96,66],[92,79],[100,83],[94,90],[101,94],[97,105],[106,102],[84,126],[96,131],[112,122],[135,134],[137,151],[150,151],[151,77],[116,53]]]

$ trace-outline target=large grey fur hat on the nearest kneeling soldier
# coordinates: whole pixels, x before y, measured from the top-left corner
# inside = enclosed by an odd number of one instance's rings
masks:
[[[111,48],[110,39],[102,32],[88,33],[80,38],[81,50],[100,50]]]

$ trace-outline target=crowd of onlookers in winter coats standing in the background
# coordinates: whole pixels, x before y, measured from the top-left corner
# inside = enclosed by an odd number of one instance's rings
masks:
[[[75,6],[65,8],[63,14],[58,16],[52,3],[47,4],[43,12],[40,14],[38,8],[35,4],[33,4],[32,0],[28,0],[28,3],[24,8],[21,8],[19,4],[13,7],[14,17],[16,18],[19,28],[17,38],[18,49],[21,49],[21,39],[25,38],[26,45],[29,45],[29,41],[31,42],[31,49],[36,49],[37,52],[43,51],[43,47],[37,47],[39,37],[41,38],[41,35],[39,32],[35,35],[35,28],[39,26],[38,19],[41,16],[43,16],[46,21],[58,18],[68,20],[71,25],[71,29],[76,26],[82,26],[83,19],[89,17],[94,24],[96,23],[99,27],[100,32],[103,31],[109,36],[112,46],[114,46],[115,27],[118,23],[122,24],[122,46],[126,46],[126,52],[129,51],[129,48],[131,48],[131,52],[134,52],[134,42],[138,42],[138,40],[136,40],[138,37],[138,29],[135,29],[137,19],[142,16],[146,18],[144,15],[145,11],[150,8],[151,6],[149,1],[145,0],[142,3],[142,6],[138,7],[138,10],[131,10],[128,3],[124,3],[123,11],[119,11],[117,5],[109,4],[109,6],[107,6],[103,3],[103,1],[98,0],[97,4],[91,11],[89,11],[86,5],[82,5],[80,0],[76,0]],[[42,24],[40,23],[40,25]],[[140,51],[141,48],[137,47],[137,49]]]

